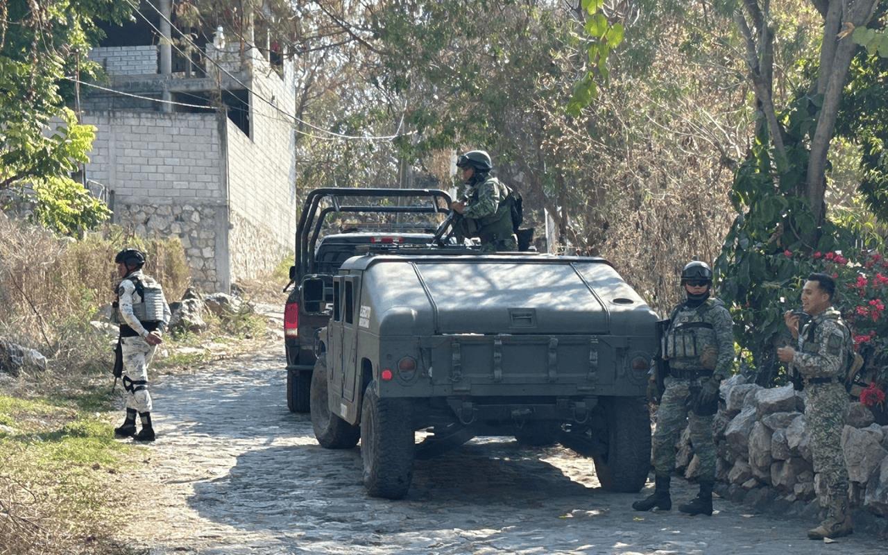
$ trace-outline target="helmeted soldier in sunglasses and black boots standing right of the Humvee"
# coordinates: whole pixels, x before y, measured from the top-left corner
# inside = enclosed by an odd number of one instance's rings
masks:
[[[675,469],[675,444],[687,424],[694,452],[700,459],[700,493],[678,505],[688,514],[712,514],[716,477],[716,447],[712,420],[718,410],[718,384],[733,364],[733,321],[725,304],[710,298],[712,270],[703,262],[688,263],[681,273],[686,300],[670,317],[662,357],[670,376],[657,410],[654,432],[655,489],[652,496],[632,503],[636,511],[672,507],[670,474]],[[655,377],[652,377],[655,380]],[[652,383],[656,388],[655,381]]]

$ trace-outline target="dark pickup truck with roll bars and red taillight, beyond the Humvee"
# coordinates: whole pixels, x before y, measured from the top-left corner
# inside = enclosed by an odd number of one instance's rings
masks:
[[[339,266],[369,245],[424,246],[432,242],[435,229],[447,218],[449,205],[450,196],[437,189],[325,187],[305,197],[296,232],[295,264],[289,269],[290,283],[296,287],[284,307],[290,411],[308,412],[313,344],[318,329],[329,320],[332,280]],[[353,221],[331,230],[332,222],[344,218]],[[308,296],[314,299],[310,302],[303,298],[306,283],[311,289]]]

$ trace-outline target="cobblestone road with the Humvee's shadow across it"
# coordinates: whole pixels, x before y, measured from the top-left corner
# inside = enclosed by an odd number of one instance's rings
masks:
[[[281,348],[155,379],[157,442],[138,476],[145,510],[128,533],[153,554],[884,553],[865,535],[824,544],[809,523],[718,499],[711,518],[639,514],[598,488],[564,448],[473,440],[416,463],[407,499],[371,499],[355,449],[329,451],[287,411]],[[678,480],[673,499],[693,496]]]

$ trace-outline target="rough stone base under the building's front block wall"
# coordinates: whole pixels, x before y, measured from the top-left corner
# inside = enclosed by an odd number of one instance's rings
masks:
[[[115,219],[139,237],[177,235],[185,248],[192,281],[206,291],[226,290],[218,272],[220,224],[227,227],[224,206],[199,204],[117,204]],[[224,232],[221,234],[224,239]]]

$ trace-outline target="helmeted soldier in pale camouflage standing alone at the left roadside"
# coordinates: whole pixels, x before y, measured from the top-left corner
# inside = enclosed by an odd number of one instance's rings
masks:
[[[151,425],[151,395],[148,393],[148,365],[162,334],[170,322],[170,305],[163,297],[157,281],[142,274],[145,255],[135,249],[124,249],[115,257],[117,274],[123,278],[117,286],[117,318],[120,337],[115,366],[123,364],[123,389],[126,395],[126,419],[115,428],[115,437],[132,437],[137,441],[154,441]],[[136,433],[136,413],[142,429]]]

